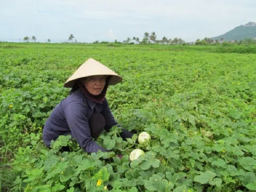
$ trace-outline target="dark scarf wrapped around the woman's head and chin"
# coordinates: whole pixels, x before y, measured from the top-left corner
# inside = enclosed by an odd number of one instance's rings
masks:
[[[102,104],[102,101],[105,99],[105,95],[108,89],[109,78],[106,79],[106,84],[99,95],[93,95],[89,93],[89,91],[86,89],[86,87],[82,84],[81,81],[78,81],[77,83],[78,83],[79,89],[84,93],[84,95],[87,98],[91,99],[93,102]]]

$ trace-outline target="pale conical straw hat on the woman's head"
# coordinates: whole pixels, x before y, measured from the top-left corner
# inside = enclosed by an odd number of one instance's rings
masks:
[[[110,75],[109,85],[115,85],[123,80],[123,78],[117,75],[113,70],[109,69],[99,61],[90,58],[68,78],[64,87],[73,87],[76,79],[93,75]]]

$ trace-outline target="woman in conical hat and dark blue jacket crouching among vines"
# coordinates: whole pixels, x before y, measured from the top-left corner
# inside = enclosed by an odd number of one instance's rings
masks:
[[[70,134],[87,153],[107,151],[92,138],[97,139],[103,129],[109,131],[117,125],[105,95],[109,85],[117,84],[122,79],[94,59],[83,63],[64,84],[72,88],[70,95],[53,109],[44,125],[45,145],[50,147],[51,141],[59,135]],[[125,140],[131,138],[133,133],[123,129],[120,135]]]

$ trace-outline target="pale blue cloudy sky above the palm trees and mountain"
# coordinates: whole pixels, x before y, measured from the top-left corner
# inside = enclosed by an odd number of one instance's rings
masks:
[[[255,0],[0,0],[0,41],[123,42],[155,31],[186,42],[256,22]]]

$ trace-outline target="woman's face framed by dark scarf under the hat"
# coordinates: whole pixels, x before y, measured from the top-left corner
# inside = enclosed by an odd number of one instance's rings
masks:
[[[82,83],[89,91],[89,93],[93,95],[99,95],[104,86],[106,84],[106,76],[105,75],[95,75],[82,79]]]

